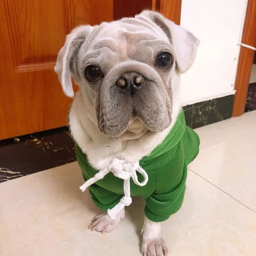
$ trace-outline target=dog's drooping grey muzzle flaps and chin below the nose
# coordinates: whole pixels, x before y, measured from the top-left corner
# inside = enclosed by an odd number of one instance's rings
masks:
[[[150,93],[145,90],[141,88],[135,97],[113,93],[115,100],[99,113],[99,130],[109,137],[119,137],[125,132],[139,134],[166,129],[171,123],[169,97],[163,99],[156,86]]]

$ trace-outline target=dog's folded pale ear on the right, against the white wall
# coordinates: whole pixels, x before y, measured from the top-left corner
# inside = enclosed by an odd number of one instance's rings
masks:
[[[144,11],[139,15],[150,18],[162,28],[174,47],[180,73],[187,71],[195,60],[197,46],[200,43],[199,39],[158,12]]]

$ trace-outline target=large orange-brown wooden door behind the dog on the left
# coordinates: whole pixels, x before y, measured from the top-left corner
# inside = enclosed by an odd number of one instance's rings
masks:
[[[113,20],[113,0],[0,0],[0,140],[67,125],[53,67],[77,25]]]

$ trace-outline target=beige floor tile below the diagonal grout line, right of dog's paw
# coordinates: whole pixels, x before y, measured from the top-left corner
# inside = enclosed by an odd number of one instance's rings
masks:
[[[170,255],[251,256],[256,252],[256,213],[193,172],[185,201],[164,227]]]

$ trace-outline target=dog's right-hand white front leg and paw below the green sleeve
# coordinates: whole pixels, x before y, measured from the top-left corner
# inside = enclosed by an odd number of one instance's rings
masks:
[[[167,255],[168,249],[162,234],[160,222],[153,222],[145,216],[141,233],[141,254],[143,256]]]

